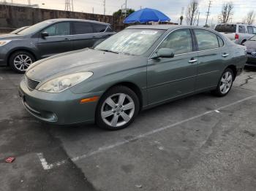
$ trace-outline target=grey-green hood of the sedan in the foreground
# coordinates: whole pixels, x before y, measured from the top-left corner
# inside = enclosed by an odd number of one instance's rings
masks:
[[[136,56],[83,49],[65,52],[37,61],[26,72],[26,76],[39,81],[60,77],[80,71],[107,68],[109,65],[130,61]]]

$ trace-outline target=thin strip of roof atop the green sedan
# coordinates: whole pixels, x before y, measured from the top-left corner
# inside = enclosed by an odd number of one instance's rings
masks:
[[[178,25],[156,25],[156,26],[149,26],[149,25],[138,25],[138,26],[129,26],[127,28],[132,29],[155,29],[155,30],[173,30],[178,28],[202,28],[209,31],[212,31],[211,28],[205,28],[200,26],[178,26]]]

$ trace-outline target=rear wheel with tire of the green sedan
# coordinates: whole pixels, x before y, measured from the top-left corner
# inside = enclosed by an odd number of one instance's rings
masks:
[[[219,83],[216,90],[212,91],[212,93],[214,93],[214,95],[217,95],[219,97],[223,97],[227,95],[232,88],[233,80],[234,80],[233,70],[230,68],[225,69],[225,71],[222,74],[222,77],[219,79]]]

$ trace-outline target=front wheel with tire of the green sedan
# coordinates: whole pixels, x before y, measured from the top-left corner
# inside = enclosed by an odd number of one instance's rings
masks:
[[[108,130],[126,128],[135,120],[139,110],[140,102],[135,92],[129,87],[112,87],[99,100],[96,124]]]

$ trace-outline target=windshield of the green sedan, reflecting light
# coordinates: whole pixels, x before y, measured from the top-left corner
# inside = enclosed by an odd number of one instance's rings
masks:
[[[126,29],[106,39],[96,50],[142,55],[165,31],[152,29]]]

